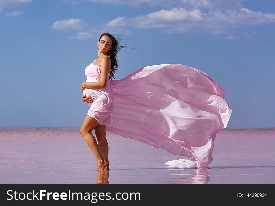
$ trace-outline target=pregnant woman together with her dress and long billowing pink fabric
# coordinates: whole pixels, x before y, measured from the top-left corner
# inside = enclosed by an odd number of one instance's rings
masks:
[[[118,41],[104,33],[98,49],[98,59],[86,67],[87,80],[81,85],[90,109],[80,129],[98,170],[109,170],[106,131],[187,156],[198,168],[206,168],[213,160],[216,135],[232,113],[217,82],[182,64],[144,66],[111,81]]]

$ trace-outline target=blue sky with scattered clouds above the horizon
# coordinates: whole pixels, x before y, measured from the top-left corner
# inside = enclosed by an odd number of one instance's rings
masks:
[[[0,127],[80,128],[80,85],[104,32],[132,47],[115,79],[195,67],[225,90],[227,128],[275,127],[273,0],[0,0],[0,25]]]

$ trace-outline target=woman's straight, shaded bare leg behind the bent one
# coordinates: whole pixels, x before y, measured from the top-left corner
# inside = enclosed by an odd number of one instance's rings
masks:
[[[105,170],[110,170],[109,166],[109,145],[106,139],[106,126],[102,124],[98,124],[95,128],[96,137],[98,140],[98,148],[103,156],[103,159],[107,161],[107,166]]]

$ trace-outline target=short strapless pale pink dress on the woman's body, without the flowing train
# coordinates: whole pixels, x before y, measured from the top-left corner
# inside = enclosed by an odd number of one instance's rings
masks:
[[[85,69],[87,77],[86,82],[99,82],[100,81],[100,66],[90,64]],[[91,96],[95,100],[89,103],[89,110],[87,114],[98,121],[98,124],[108,125],[111,124],[110,114],[114,108],[114,95],[113,89],[110,86],[109,73],[107,75],[107,82],[105,88],[83,90],[83,95]]]

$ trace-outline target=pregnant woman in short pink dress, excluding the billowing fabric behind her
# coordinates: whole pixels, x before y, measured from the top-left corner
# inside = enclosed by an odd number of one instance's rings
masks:
[[[114,95],[110,80],[117,70],[118,42],[110,34],[102,34],[98,40],[98,58],[85,69],[86,82],[81,84],[83,102],[90,109],[80,129],[80,134],[93,151],[98,170],[109,170],[108,142],[105,126],[111,124],[110,114],[114,108]],[[98,140],[91,133],[95,130]]]

